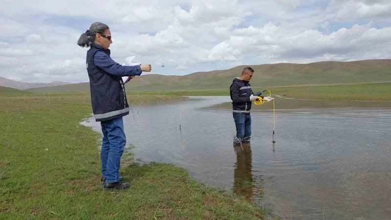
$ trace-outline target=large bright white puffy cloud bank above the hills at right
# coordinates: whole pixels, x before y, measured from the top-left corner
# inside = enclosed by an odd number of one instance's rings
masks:
[[[352,54],[377,53],[376,57],[390,57],[391,27],[376,29],[355,24],[328,35],[318,30],[305,30],[286,35],[282,26],[267,23],[261,28],[250,26],[233,31],[233,36],[211,50],[199,52],[199,61],[236,61],[238,56],[253,55],[265,62],[281,60],[310,61],[313,57],[324,60],[348,60]],[[383,49],[381,49],[383,48]],[[356,56],[356,59],[360,59]]]

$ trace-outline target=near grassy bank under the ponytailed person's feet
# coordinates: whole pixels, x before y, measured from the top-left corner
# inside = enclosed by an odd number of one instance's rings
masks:
[[[146,98],[148,97],[148,98]],[[164,100],[163,98],[164,97]],[[178,96],[130,95],[133,105]],[[123,156],[123,192],[103,193],[88,93],[0,94],[0,219],[259,219],[268,210],[170,164]],[[128,158],[126,160],[125,158]]]

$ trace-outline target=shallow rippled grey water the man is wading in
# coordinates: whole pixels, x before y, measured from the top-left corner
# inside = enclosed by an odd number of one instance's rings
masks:
[[[137,158],[174,163],[282,219],[391,218],[391,103],[275,100],[253,105],[251,144],[234,147],[226,96],[133,108]],[[90,118],[84,124],[101,132]]]

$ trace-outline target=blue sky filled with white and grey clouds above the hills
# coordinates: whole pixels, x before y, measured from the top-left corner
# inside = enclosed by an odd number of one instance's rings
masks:
[[[0,77],[88,82],[93,22],[119,64],[187,75],[239,65],[391,58],[390,0],[0,0]],[[164,64],[164,67],[162,66]]]

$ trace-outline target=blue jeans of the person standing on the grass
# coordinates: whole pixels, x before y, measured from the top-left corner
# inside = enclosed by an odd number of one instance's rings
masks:
[[[124,133],[124,122],[122,117],[102,121],[102,177],[106,177],[106,182],[119,181],[119,167],[122,153],[126,144]]]

